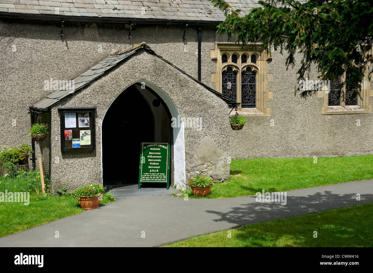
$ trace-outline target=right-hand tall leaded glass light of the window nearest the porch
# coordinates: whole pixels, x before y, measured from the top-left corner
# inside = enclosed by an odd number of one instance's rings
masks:
[[[256,73],[250,68],[241,73],[241,107],[256,107]]]

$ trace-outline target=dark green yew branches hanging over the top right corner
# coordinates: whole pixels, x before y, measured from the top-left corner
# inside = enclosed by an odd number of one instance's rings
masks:
[[[262,43],[287,52],[286,69],[294,66],[297,50],[303,56],[297,71],[298,82],[304,80],[311,65],[316,65],[320,80],[332,80],[346,72],[347,86],[357,86],[359,95],[364,72],[372,76],[373,0],[265,0],[262,7],[241,16],[224,0],[211,0],[225,13],[226,20],[218,25],[218,33],[234,36],[236,42]],[[272,47],[271,47],[272,45]],[[299,55],[297,56],[299,57]],[[344,84],[342,81],[339,88]],[[307,96],[317,91],[301,91]],[[343,98],[343,95],[342,95]]]

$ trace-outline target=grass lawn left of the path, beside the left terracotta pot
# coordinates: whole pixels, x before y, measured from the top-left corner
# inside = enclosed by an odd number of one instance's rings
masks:
[[[110,203],[105,196],[100,206]],[[0,203],[0,237],[81,213],[84,209],[73,197],[30,194],[30,203]]]

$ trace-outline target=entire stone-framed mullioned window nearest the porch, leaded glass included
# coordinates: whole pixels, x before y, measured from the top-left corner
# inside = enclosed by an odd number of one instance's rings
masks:
[[[237,112],[244,117],[270,116],[267,99],[272,99],[268,91],[272,74],[267,73],[269,57],[265,50],[257,45],[239,48],[235,43],[216,42],[211,60],[216,61],[216,73],[211,74],[216,91],[239,103]]]

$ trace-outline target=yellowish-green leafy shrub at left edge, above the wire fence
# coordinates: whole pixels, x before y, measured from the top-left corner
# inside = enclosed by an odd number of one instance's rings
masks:
[[[12,149],[3,146],[3,150],[0,153],[0,166],[28,164],[28,158],[33,152],[31,147],[26,143],[22,143]]]

